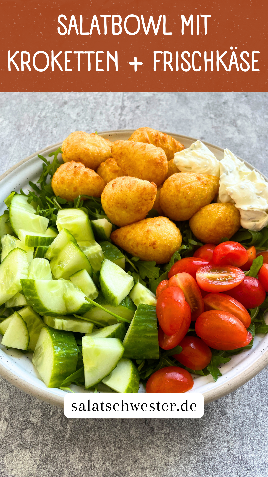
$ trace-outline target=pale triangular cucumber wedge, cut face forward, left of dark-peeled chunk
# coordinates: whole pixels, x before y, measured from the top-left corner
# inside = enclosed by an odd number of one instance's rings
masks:
[[[100,383],[112,373],[124,353],[122,342],[117,338],[82,337],[85,388]]]

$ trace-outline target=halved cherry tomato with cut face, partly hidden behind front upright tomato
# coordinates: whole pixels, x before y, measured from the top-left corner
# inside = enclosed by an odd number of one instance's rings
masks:
[[[205,311],[204,301],[196,280],[189,273],[177,273],[171,277],[168,286],[179,287],[183,291],[185,299],[191,308],[192,320],[196,321],[197,316]]]

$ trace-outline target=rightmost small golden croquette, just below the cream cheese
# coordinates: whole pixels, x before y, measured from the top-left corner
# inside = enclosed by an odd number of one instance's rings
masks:
[[[209,204],[190,218],[189,225],[198,240],[218,245],[240,228],[240,214],[233,204]]]

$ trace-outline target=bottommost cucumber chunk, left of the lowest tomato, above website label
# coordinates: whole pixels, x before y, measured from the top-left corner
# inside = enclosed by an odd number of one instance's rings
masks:
[[[130,359],[122,358],[103,383],[117,393],[137,393],[140,386],[140,374]]]

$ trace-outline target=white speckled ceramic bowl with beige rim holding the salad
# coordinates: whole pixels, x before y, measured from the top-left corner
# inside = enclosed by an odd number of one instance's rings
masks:
[[[99,133],[103,137],[115,141],[117,139],[128,139],[133,133],[133,130],[122,131],[106,131]],[[176,135],[168,133],[182,142],[186,147],[189,147],[196,139],[187,136]],[[204,143],[215,154],[217,159],[223,158],[223,149],[221,147]],[[29,187],[29,180],[36,182],[42,170],[41,160],[38,154],[48,158],[50,152],[55,151],[61,143],[51,145],[42,149],[38,153],[26,157],[16,166],[11,167],[3,176],[1,176],[0,184],[0,215],[5,210],[3,200],[12,190],[27,191]],[[247,164],[247,163],[246,163]],[[247,164],[253,169],[252,166]],[[268,179],[266,178],[268,181]],[[19,350],[7,350],[5,346],[0,345],[0,374],[6,378],[10,383],[19,387],[23,391],[32,396],[42,399],[43,401],[63,407],[63,397],[65,391],[58,388],[47,388],[41,381],[39,374],[31,363],[31,353],[23,354]],[[241,354],[231,357],[231,360],[220,366],[222,376],[218,378],[216,383],[213,381],[211,375],[196,376],[195,384],[192,391],[204,394],[205,403],[215,401],[225,394],[231,393],[238,387],[247,383],[257,373],[259,373],[268,364],[268,337],[264,335],[256,335],[253,347],[251,350],[245,351]],[[88,392],[79,386],[72,385],[72,390],[76,392]],[[99,390],[102,392],[111,392],[110,389],[104,385],[99,385]],[[144,392],[141,386],[139,392]],[[190,391],[191,392],[191,391]]]

